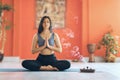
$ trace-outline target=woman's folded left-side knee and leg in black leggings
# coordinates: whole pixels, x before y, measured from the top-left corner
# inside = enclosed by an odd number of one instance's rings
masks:
[[[22,66],[31,71],[39,71],[41,64],[37,60],[24,60]]]

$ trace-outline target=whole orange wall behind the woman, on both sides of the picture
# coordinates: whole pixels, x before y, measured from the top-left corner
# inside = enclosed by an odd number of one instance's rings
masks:
[[[35,0],[2,0],[14,7],[11,18],[14,28],[8,31],[6,56],[35,58],[31,54],[32,37],[35,29]],[[120,35],[119,0],[66,0],[66,25],[64,29],[54,29],[61,38],[63,53],[56,56],[72,59],[72,53],[80,52],[88,56],[86,45],[97,43],[103,33],[112,25]],[[104,56],[104,50],[97,50],[96,56]],[[120,56],[120,55],[118,55]]]

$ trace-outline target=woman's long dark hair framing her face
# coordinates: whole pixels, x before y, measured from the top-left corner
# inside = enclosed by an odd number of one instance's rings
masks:
[[[52,32],[52,22],[51,22],[50,17],[49,17],[49,16],[43,16],[43,17],[41,18],[41,21],[40,21],[40,24],[39,24],[39,27],[38,27],[38,33],[39,33],[39,34],[43,31],[43,21],[44,21],[45,18],[48,18],[48,19],[49,19],[49,21],[50,21],[49,30],[50,30],[50,32]]]

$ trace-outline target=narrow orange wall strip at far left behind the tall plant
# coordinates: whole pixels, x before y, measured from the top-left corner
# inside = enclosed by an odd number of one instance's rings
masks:
[[[1,0],[3,4],[8,3],[11,6],[13,6],[13,0]],[[11,21],[11,24],[13,25],[13,13],[12,11],[7,12],[5,11],[4,17],[7,17],[8,20]],[[6,44],[5,44],[5,55],[11,56],[13,53],[13,27],[11,27],[11,30],[7,30],[7,37],[6,37]]]

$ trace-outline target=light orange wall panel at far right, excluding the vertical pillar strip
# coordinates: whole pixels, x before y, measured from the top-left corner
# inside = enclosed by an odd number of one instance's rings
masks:
[[[101,36],[113,28],[114,35],[120,37],[120,0],[89,1],[89,42],[98,42]],[[120,42],[120,40],[119,40]],[[103,56],[99,50],[96,55]]]

